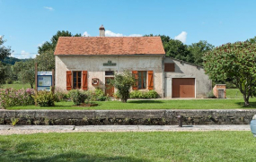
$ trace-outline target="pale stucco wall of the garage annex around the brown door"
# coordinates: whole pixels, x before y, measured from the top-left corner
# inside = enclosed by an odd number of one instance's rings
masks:
[[[195,97],[205,98],[212,89],[212,81],[202,67],[164,57],[164,63],[174,63],[175,72],[164,72],[164,97],[172,98],[172,78],[195,78]]]

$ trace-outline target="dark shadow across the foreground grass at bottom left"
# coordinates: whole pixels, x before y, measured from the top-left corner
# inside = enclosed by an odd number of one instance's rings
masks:
[[[45,151],[40,151],[37,149],[41,144],[38,142],[23,142],[16,147],[9,148],[11,146],[10,141],[1,141],[3,142],[0,145],[0,152],[1,157],[0,161],[35,161],[35,162],[44,162],[44,161],[146,161],[150,162],[147,159],[140,159],[140,158],[132,158],[132,157],[125,157],[125,156],[107,156],[102,154],[97,154],[95,152],[93,155],[86,154],[86,149],[84,151],[75,152],[75,151],[68,151],[66,153],[59,153],[56,154],[54,151],[56,149],[61,150],[61,147],[53,148],[53,152],[49,150],[49,148],[45,148]],[[57,150],[58,152],[58,150]],[[49,154],[49,155],[48,155]],[[107,154],[107,153],[106,153]]]

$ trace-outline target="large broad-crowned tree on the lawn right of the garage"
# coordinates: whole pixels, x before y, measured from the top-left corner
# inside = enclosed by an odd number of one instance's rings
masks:
[[[210,79],[225,81],[230,78],[243,93],[244,106],[255,96],[256,44],[251,42],[227,43],[207,52],[204,67]]]

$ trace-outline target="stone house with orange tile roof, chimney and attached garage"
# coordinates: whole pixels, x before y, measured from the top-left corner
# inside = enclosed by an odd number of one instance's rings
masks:
[[[105,37],[105,29],[101,27],[100,37],[58,38],[54,55],[56,87],[61,90],[101,88],[112,96],[116,90],[109,82],[114,72],[126,70],[138,79],[132,90],[155,90],[161,98],[200,98],[211,90],[210,81],[201,67],[184,62],[182,67],[180,61],[164,57],[160,37]],[[168,68],[174,71],[169,72]],[[179,76],[181,81],[173,81]],[[194,81],[194,87],[187,86],[186,79],[190,80],[189,84]],[[177,84],[182,81],[184,86]],[[175,94],[178,92],[172,86],[183,86],[181,93],[194,90],[190,93],[195,95],[173,96],[172,90]]]

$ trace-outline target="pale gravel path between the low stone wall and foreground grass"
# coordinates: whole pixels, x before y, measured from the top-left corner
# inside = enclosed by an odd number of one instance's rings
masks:
[[[49,132],[206,132],[251,131],[250,125],[0,125],[0,135]]]

